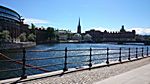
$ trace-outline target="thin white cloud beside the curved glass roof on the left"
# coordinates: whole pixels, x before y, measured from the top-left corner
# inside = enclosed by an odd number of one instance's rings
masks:
[[[48,24],[49,22],[46,20],[35,19],[35,18],[25,18],[24,23],[26,24]]]

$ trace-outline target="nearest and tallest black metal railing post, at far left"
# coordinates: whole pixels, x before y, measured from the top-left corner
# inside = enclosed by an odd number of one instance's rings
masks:
[[[22,76],[21,76],[21,79],[27,78],[27,76],[26,76],[26,67],[25,67],[25,64],[26,64],[26,50],[25,50],[25,48],[23,48]]]

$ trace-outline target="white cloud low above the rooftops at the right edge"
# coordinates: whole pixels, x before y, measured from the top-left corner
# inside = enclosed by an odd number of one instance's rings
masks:
[[[150,35],[150,28],[130,28],[130,29],[127,29],[127,31],[132,31],[132,30],[135,30],[136,34]]]

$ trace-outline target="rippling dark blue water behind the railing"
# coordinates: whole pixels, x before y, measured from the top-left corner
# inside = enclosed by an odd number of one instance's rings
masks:
[[[42,65],[50,65],[50,64],[58,64],[56,66],[45,66],[42,67],[42,69],[48,70],[48,71],[55,71],[55,70],[62,70],[64,68],[64,56],[65,52],[64,51],[50,51],[50,52],[30,52],[31,50],[65,50],[67,47],[68,50],[73,50],[73,49],[81,49],[80,51],[68,51],[67,52],[67,65],[68,68],[77,68],[77,67],[82,67],[82,66],[88,66],[89,64],[89,55],[90,55],[90,48],[92,48],[92,64],[99,64],[102,62],[106,62],[106,50],[94,50],[94,49],[114,49],[114,50],[109,50],[109,54],[111,53],[117,53],[117,54],[111,54],[110,55],[110,60],[112,61],[117,61],[119,57],[119,48],[121,47],[122,49],[126,48],[128,49],[129,47],[131,49],[131,57],[135,57],[135,48],[138,47],[141,49],[142,47],[146,48],[147,46],[144,46],[142,44],[139,45],[115,45],[115,44],[42,44],[42,45],[37,45],[32,48],[26,49],[26,59],[31,59],[31,58],[44,58],[44,57],[62,57],[58,59],[46,59],[46,60],[27,60],[26,63],[29,65],[34,65],[34,66],[42,66]],[[82,50],[86,49],[86,50]],[[116,50],[117,49],[117,50]],[[22,51],[20,50],[13,50],[13,51],[18,51],[17,53],[12,53],[12,52],[7,52],[5,55],[9,56],[12,59],[22,59]],[[144,50],[144,53],[146,50]],[[124,50],[122,52],[122,59],[127,59],[127,52],[128,50]],[[139,50],[138,52],[141,52]],[[124,54],[125,53],[125,54]],[[139,53],[139,56],[142,54]],[[74,56],[74,57],[72,57]],[[78,57],[80,56],[80,57]],[[6,60],[4,58],[0,58],[2,60]],[[16,69],[16,68],[22,68],[21,64],[16,64],[15,62],[3,62],[0,61],[0,70],[6,70],[6,69]],[[32,75],[32,74],[39,74],[39,73],[44,73],[44,71],[33,69],[31,67],[27,67],[26,74],[27,75]],[[16,71],[9,71],[9,72],[0,72],[0,79],[5,79],[5,78],[13,78],[13,77],[18,77],[21,76],[22,70],[16,70]]]

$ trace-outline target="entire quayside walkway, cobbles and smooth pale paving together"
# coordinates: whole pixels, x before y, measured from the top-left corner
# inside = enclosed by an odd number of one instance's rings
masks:
[[[134,73],[132,73],[134,72]],[[115,78],[119,74],[129,73],[121,77]],[[149,73],[149,74],[148,74]],[[148,76],[147,76],[148,75]],[[114,76],[114,78],[113,78]],[[143,76],[143,77],[142,77]],[[147,79],[144,77],[147,76]],[[138,78],[137,78],[138,77]],[[105,79],[106,82],[104,81]],[[64,74],[62,76],[41,78],[32,81],[23,82],[24,84],[150,84],[150,57],[138,61],[127,62],[109,67],[96,68],[79,72]],[[146,81],[147,80],[147,81]],[[100,82],[102,81],[102,82]],[[104,82],[103,82],[104,81]],[[117,82],[119,81],[119,82]],[[107,83],[108,82],[108,83]],[[142,82],[142,83],[141,83]]]

